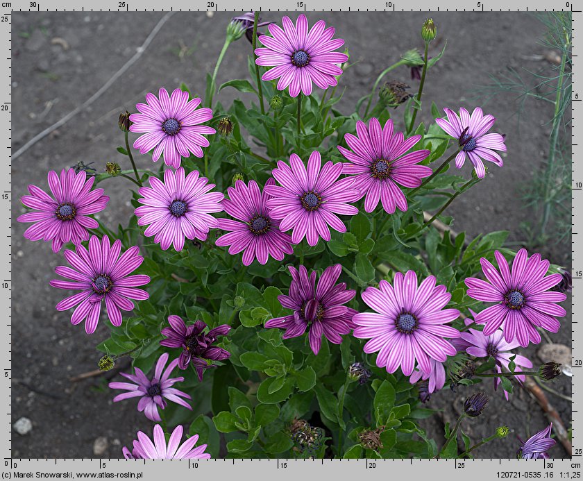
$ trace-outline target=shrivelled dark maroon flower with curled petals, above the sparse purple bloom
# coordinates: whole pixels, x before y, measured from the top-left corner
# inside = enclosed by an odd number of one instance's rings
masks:
[[[222,324],[209,332],[203,332],[207,325],[203,321],[196,321],[187,326],[178,316],[169,316],[169,328],[162,329],[162,335],[166,339],[160,341],[162,346],[183,348],[183,352],[178,357],[178,367],[186,369],[192,362],[198,380],[203,380],[203,372],[212,366],[211,361],[223,361],[230,357],[230,353],[222,348],[213,346],[217,337],[226,336],[230,331],[230,326]]]

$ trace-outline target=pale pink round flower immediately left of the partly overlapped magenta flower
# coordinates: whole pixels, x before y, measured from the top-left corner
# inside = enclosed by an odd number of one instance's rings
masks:
[[[210,213],[223,210],[224,196],[221,192],[209,192],[214,184],[199,176],[194,170],[185,177],[183,167],[175,172],[166,169],[163,183],[150,176],[150,187],[139,189],[142,197],[137,201],[144,205],[135,210],[137,223],[148,226],[144,235],[153,235],[154,242],[164,251],[171,245],[182,251],[185,238],[206,240],[209,230],[219,227]]]

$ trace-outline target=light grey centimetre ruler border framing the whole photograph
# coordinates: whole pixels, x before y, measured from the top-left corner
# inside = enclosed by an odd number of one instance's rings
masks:
[[[3,369],[3,384],[1,389],[4,396],[0,397],[3,410],[5,429],[0,430],[0,450],[3,457],[3,466],[0,470],[2,479],[33,478],[33,479],[92,479],[92,478],[121,478],[133,480],[160,480],[160,479],[237,479],[237,480],[312,480],[321,477],[328,479],[362,479],[373,478],[383,480],[409,479],[423,480],[496,480],[496,479],[523,479],[541,478],[566,480],[581,478],[581,463],[583,462],[583,443],[579,441],[579,432],[583,428],[578,406],[583,400],[583,389],[577,387],[577,382],[583,379],[580,372],[583,369],[583,327],[580,327],[578,314],[583,314],[583,304],[579,305],[580,285],[583,278],[583,167],[577,158],[583,155],[583,137],[579,134],[579,117],[583,118],[583,92],[577,88],[577,80],[583,74],[577,61],[578,28],[583,31],[583,2],[578,1],[456,1],[441,0],[368,0],[351,3],[349,0],[279,0],[255,1],[244,3],[237,0],[173,0],[162,2],[159,0],[147,1],[73,1],[73,0],[40,0],[40,1],[0,1],[0,132],[4,135],[6,146],[5,160],[2,163],[3,175],[0,175],[0,203],[1,223],[0,251],[6,253],[4,262],[0,263],[0,303],[3,318],[0,323],[1,342],[6,343],[1,349]],[[171,3],[171,4],[169,4]],[[126,460],[126,459],[13,459],[11,456],[12,417],[10,396],[11,375],[11,234],[12,221],[11,202],[11,162],[27,149],[27,144],[18,151],[12,151],[11,146],[11,25],[13,15],[35,15],[34,12],[133,12],[133,11],[225,11],[246,12],[249,10],[276,10],[280,11],[308,11],[322,10],[340,11],[375,11],[383,15],[391,12],[435,12],[435,11],[463,11],[463,12],[516,12],[516,11],[545,11],[568,10],[573,12],[573,457],[571,459],[201,459],[201,460]],[[179,15],[179,14],[178,14]],[[112,78],[110,82],[115,81]],[[108,84],[103,88],[107,88]],[[83,106],[79,108],[82,110]],[[76,113],[76,112],[75,112]],[[40,133],[43,137],[49,132]],[[37,136],[37,137],[38,137]],[[582,140],[580,140],[582,139]],[[31,140],[35,142],[35,138]],[[581,142],[581,145],[579,144]],[[21,194],[21,193],[18,193]],[[16,194],[15,194],[16,195]],[[18,199],[15,197],[15,202]],[[581,212],[579,212],[581,211]],[[5,414],[1,414],[5,413]],[[564,420],[566,424],[569,420]],[[121,455],[121,451],[120,451]]]

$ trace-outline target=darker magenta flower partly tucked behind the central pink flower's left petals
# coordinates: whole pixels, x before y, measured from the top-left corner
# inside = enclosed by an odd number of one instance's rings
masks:
[[[275,184],[270,178],[267,185]],[[246,185],[242,180],[235,187],[227,189],[229,199],[223,200],[226,212],[237,219],[218,219],[219,228],[230,231],[217,239],[217,246],[230,246],[229,253],[243,253],[243,264],[248,266],[257,258],[265,264],[271,255],[273,259],[283,260],[285,254],[292,254],[292,237],[282,233],[278,220],[271,217],[267,207],[269,195],[261,192],[255,180]]]

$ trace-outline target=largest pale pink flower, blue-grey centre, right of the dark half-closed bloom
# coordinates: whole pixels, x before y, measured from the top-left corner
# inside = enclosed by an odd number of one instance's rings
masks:
[[[417,287],[417,275],[407,271],[397,272],[393,286],[386,280],[379,282],[380,289],[367,287],[362,300],[376,312],[356,314],[353,321],[358,326],[354,337],[371,339],[364,344],[367,354],[379,351],[377,366],[394,373],[399,367],[403,374],[411,375],[415,361],[421,371],[430,373],[430,360],[444,362],[455,355],[455,347],[444,337],[459,337],[459,331],[446,323],[459,317],[457,309],[443,309],[451,294],[446,286],[435,285],[429,276]]]

